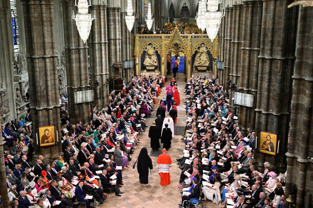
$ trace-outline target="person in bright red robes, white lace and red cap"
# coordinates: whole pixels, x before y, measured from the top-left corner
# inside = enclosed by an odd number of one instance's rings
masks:
[[[166,154],[166,149],[162,149],[162,154],[159,155],[156,161],[156,167],[159,169],[159,175],[161,177],[160,185],[166,186],[171,183],[170,167],[172,166],[171,157]]]

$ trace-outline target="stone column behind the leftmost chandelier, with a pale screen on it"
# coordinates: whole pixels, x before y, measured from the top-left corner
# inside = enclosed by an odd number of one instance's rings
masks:
[[[63,0],[64,28],[65,32],[65,55],[68,84],[68,103],[70,122],[82,121],[87,124],[90,120],[90,103],[75,103],[76,91],[89,90],[88,75],[88,45],[80,38],[76,22],[72,19],[73,10],[76,14],[75,1]],[[93,21],[92,24],[95,22]]]

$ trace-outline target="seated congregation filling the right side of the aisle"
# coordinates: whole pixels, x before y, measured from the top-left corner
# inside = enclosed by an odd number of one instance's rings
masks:
[[[192,75],[186,83],[186,147],[177,159],[182,170],[178,206],[186,207],[196,198],[221,208],[284,207],[286,174],[275,173],[269,162],[264,162],[264,171],[256,170],[255,132],[240,131],[238,116],[228,108],[229,92],[217,80],[214,75]]]

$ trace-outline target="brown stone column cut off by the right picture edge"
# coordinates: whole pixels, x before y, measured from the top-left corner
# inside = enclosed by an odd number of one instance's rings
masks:
[[[292,7],[288,10],[294,10]],[[296,42],[296,61],[293,79],[293,96],[290,122],[286,198],[296,185],[296,208],[312,207],[312,135],[313,135],[313,62],[312,24],[313,7],[300,6]],[[307,204],[306,202],[309,202]],[[285,207],[290,207],[285,200]],[[293,206],[291,206],[293,207]]]

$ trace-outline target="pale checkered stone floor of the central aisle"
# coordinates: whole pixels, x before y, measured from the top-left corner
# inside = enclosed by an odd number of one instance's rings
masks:
[[[172,80],[172,77],[169,77],[169,81]],[[186,125],[186,110],[184,105],[184,100],[186,99],[186,95],[184,94],[185,88],[185,75],[182,73],[177,73],[177,85],[180,88],[181,94],[181,105],[178,106],[179,114],[177,119],[177,125],[174,127],[175,136],[172,138],[172,148],[167,151],[172,158],[172,167],[170,168],[170,175],[171,175],[171,184],[167,186],[160,185],[160,176],[158,174],[158,170],[156,168],[156,160],[157,156],[161,154],[161,148],[159,149],[159,153],[152,153],[150,147],[150,138],[148,137],[149,128],[147,128],[146,132],[143,132],[143,136],[139,136],[140,144],[136,146],[137,149],[132,156],[132,161],[129,163],[131,166],[127,170],[123,170],[123,181],[124,186],[121,191],[125,192],[122,194],[121,197],[115,196],[112,194],[112,198],[108,198],[105,200],[105,203],[99,205],[97,207],[112,207],[112,208],[156,208],[156,207],[178,207],[178,204],[181,203],[182,194],[180,193],[180,189],[177,188],[179,185],[178,181],[180,178],[181,170],[178,168],[176,163],[177,158],[182,157],[182,150],[184,149],[184,143],[180,140],[182,138],[182,128]],[[168,84],[166,84],[167,86]],[[166,96],[165,88],[163,88],[161,95],[158,97],[159,100]],[[155,118],[147,119],[146,123],[151,126],[152,121]],[[177,129],[176,129],[177,128]],[[178,130],[179,128],[179,130]],[[179,135],[176,135],[176,133]],[[137,173],[137,169],[132,169],[137,156],[142,147],[146,147],[148,149],[148,154],[150,155],[153,163],[153,170],[151,170],[152,175],[149,176],[149,184],[142,185],[139,182],[139,175]],[[212,207],[217,208],[218,205],[211,205],[212,202],[204,202],[203,207]]]

